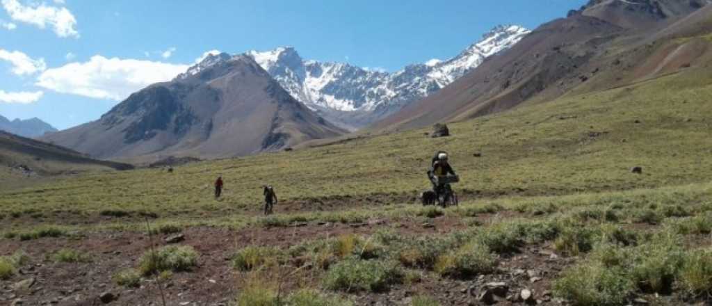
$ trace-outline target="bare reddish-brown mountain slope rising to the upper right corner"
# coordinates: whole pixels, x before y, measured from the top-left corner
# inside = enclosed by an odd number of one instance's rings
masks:
[[[676,28],[688,24],[708,35],[709,2],[592,0],[371,128],[397,130],[465,120],[707,65],[703,58],[710,40],[690,38]]]

